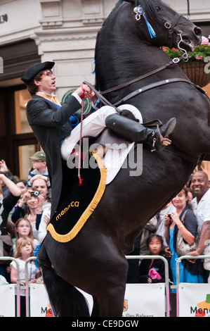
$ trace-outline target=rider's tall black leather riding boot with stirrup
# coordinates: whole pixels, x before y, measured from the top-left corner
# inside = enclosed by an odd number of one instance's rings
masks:
[[[171,118],[169,122],[161,127],[157,126],[155,129],[151,129],[116,113],[107,116],[105,125],[117,135],[131,142],[147,142],[150,144],[152,151],[155,151],[155,149],[162,150],[164,146],[171,144],[171,140],[166,137],[173,131],[176,118]]]

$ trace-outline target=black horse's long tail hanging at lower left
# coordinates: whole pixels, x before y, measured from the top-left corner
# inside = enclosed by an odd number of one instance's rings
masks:
[[[43,256],[39,259],[39,255],[43,253],[43,249],[46,253],[43,245],[40,248],[40,252],[38,251],[39,266],[42,269],[44,284],[46,285],[55,316],[89,317],[88,304],[83,294],[56,273],[51,263],[49,263],[49,259],[48,261],[44,261],[42,259]]]

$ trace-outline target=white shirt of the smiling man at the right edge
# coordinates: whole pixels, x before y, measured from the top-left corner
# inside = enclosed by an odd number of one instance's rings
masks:
[[[195,197],[192,199],[191,204],[197,218],[197,225],[199,230],[201,230],[203,223],[210,220],[210,189],[202,196],[199,203],[197,203],[197,198]]]

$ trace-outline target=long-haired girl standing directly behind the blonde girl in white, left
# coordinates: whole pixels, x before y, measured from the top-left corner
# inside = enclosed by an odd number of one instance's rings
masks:
[[[19,238],[29,237],[33,241],[33,246],[36,249],[40,245],[37,239],[34,238],[32,233],[32,225],[27,218],[19,218],[15,223],[15,238],[13,238],[13,253],[15,254],[15,243]]]

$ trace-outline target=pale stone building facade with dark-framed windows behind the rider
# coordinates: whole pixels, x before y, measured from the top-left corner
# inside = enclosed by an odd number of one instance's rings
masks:
[[[164,1],[188,17],[188,1]],[[0,0],[0,158],[26,178],[29,156],[40,149],[25,107],[20,77],[34,63],[55,61],[60,100],[84,80],[94,84],[96,36],[117,0]],[[210,35],[209,0],[190,0],[190,20]],[[206,87],[207,91],[209,87]],[[209,91],[210,92],[210,91]]]

